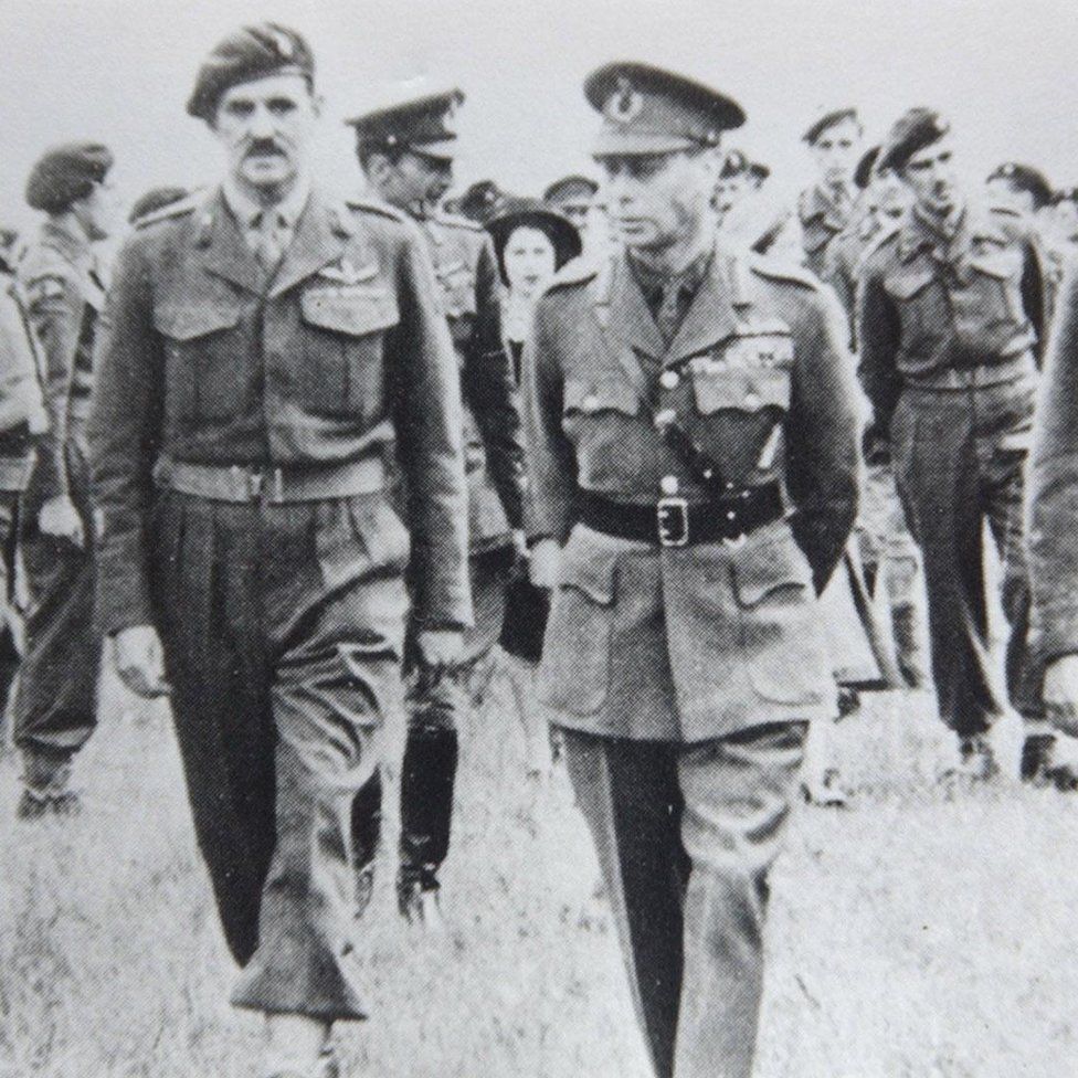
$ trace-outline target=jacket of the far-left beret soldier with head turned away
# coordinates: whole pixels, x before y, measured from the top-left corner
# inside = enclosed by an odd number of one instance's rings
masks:
[[[32,509],[68,494],[66,445],[85,451],[94,385],[93,350],[105,282],[85,236],[45,221],[18,266],[27,310],[41,344],[49,430],[31,478]]]

